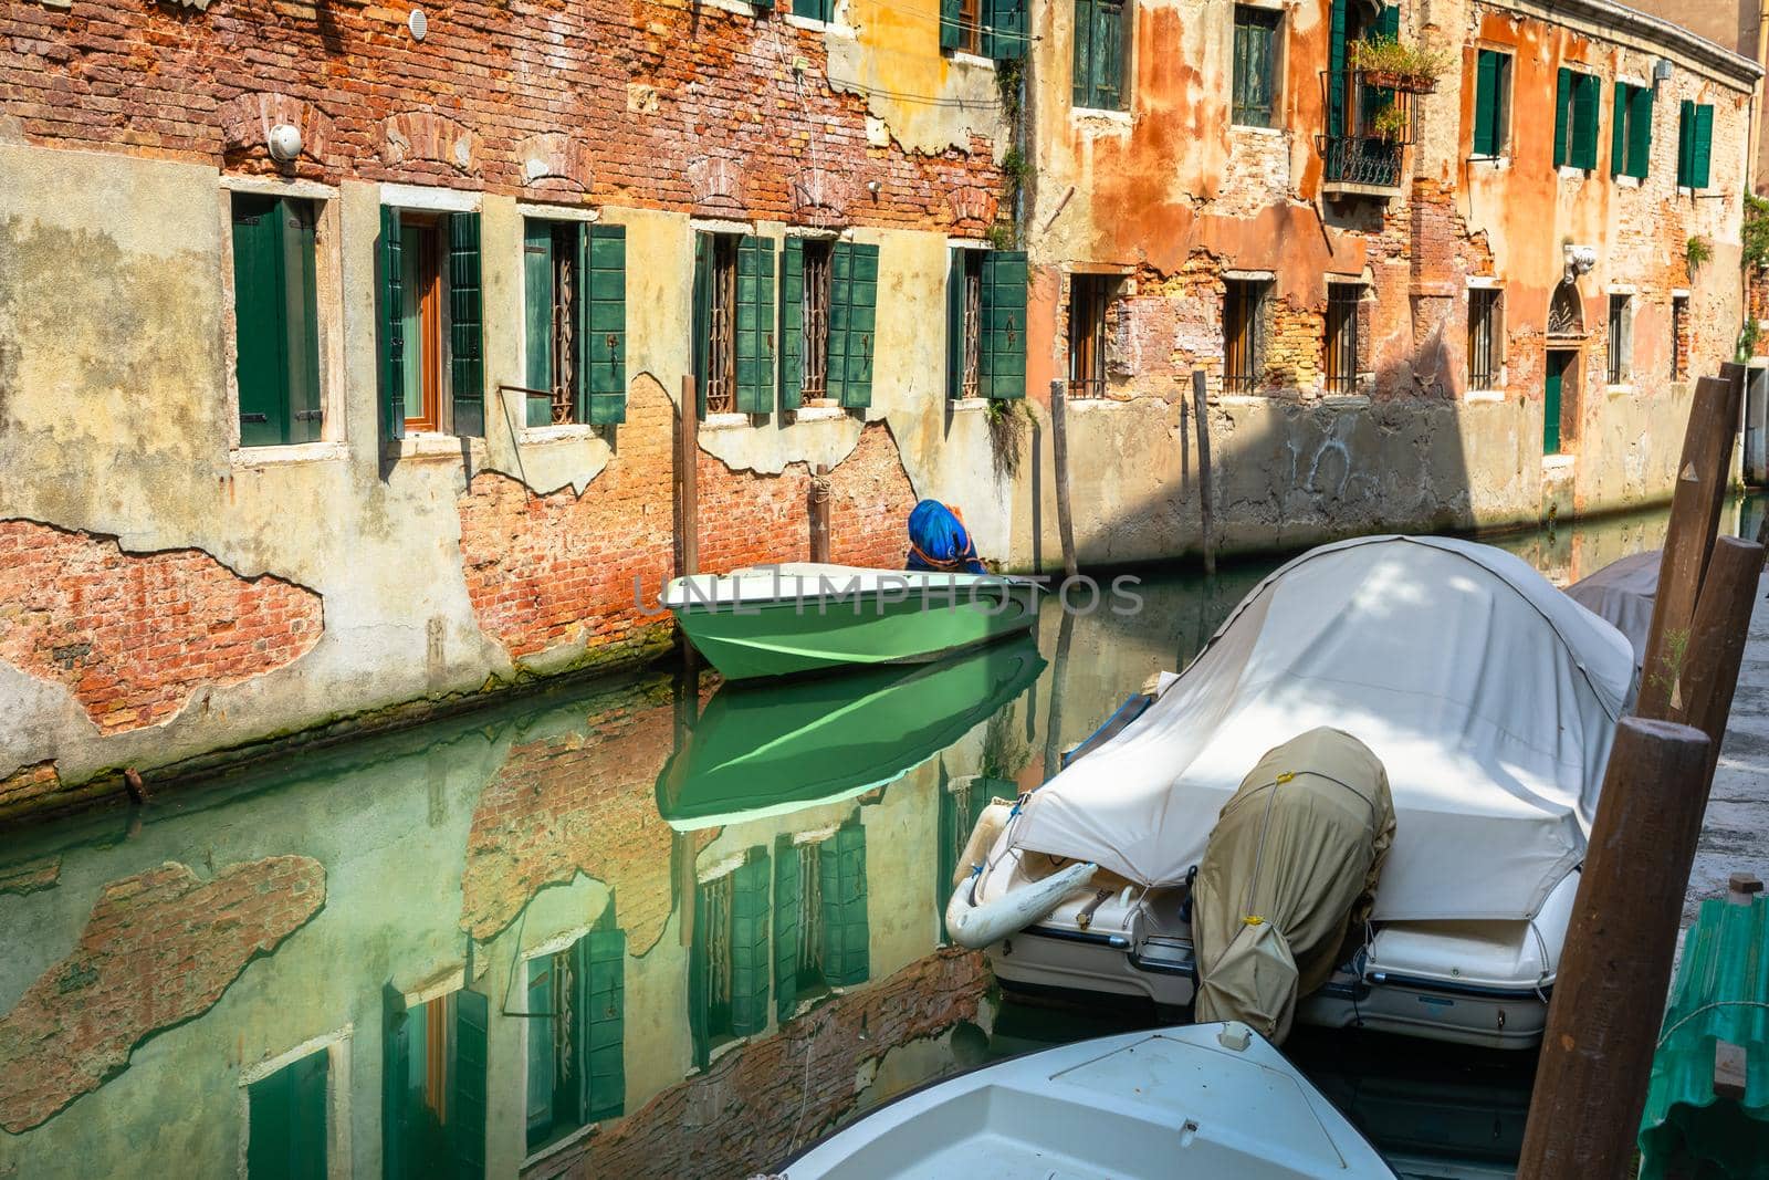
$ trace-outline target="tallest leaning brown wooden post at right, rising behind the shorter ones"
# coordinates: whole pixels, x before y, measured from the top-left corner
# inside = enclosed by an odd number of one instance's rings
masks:
[[[1734,425],[1739,418],[1739,386],[1723,377],[1695,382],[1689,428],[1677,462],[1677,483],[1659,559],[1658,596],[1647,630],[1647,655],[1640,674],[1638,716],[1673,716],[1672,690],[1684,663],[1695,600],[1702,593],[1707,556],[1719,533],[1719,510],[1727,495]]]

